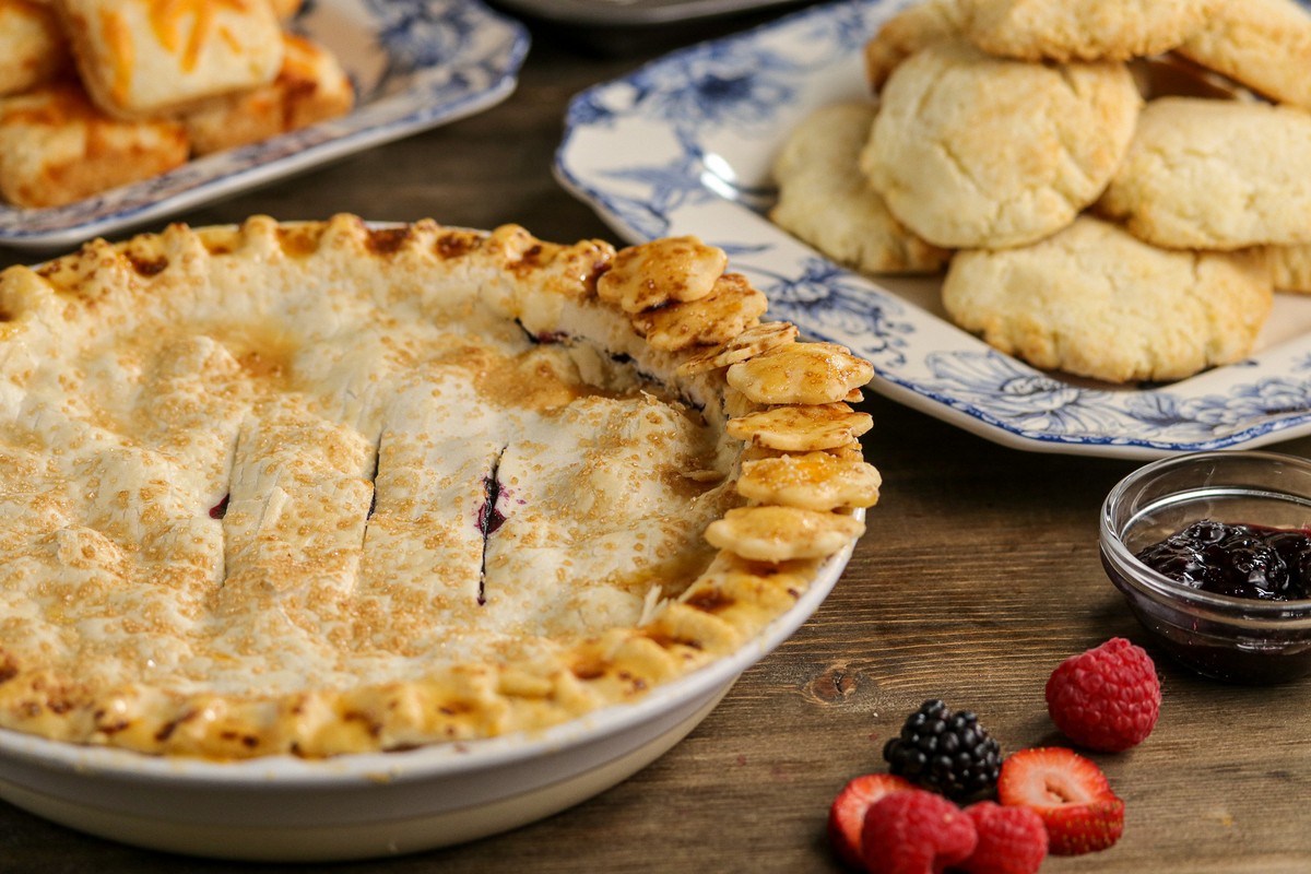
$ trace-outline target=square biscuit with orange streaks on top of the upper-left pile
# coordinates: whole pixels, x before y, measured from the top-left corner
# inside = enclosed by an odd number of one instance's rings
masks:
[[[92,100],[119,118],[177,113],[264,85],[282,67],[267,0],[56,0]]]

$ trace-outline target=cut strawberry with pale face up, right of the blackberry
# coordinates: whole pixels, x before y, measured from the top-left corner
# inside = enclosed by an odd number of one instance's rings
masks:
[[[1103,850],[1125,831],[1125,802],[1097,765],[1062,747],[1021,750],[1002,763],[998,801],[1042,818],[1053,856]]]

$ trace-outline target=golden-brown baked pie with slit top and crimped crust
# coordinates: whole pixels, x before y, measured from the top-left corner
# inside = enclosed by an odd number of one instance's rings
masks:
[[[863,532],[868,362],[695,237],[170,225],[0,274],[0,726],[323,757],[749,645]]]

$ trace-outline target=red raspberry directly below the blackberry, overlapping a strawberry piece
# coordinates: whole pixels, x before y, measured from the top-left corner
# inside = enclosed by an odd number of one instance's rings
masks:
[[[865,814],[860,844],[873,874],[940,874],[970,857],[978,835],[960,807],[927,789],[894,791]]]

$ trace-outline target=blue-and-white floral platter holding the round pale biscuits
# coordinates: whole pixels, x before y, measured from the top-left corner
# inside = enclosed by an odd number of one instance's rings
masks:
[[[585,90],[556,177],[629,240],[695,233],[724,248],[773,317],[872,360],[873,389],[998,443],[1159,457],[1311,432],[1311,299],[1281,295],[1272,322],[1286,335],[1262,335],[1244,362],[1110,387],[1004,355],[948,324],[936,283],[902,294],[902,279],[856,275],[764,218],[785,132],[825,102],[865,94],[861,48],[910,1],[812,7]]]

